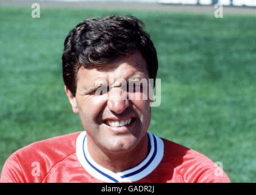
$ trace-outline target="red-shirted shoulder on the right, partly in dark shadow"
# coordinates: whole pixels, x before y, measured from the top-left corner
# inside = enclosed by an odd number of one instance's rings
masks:
[[[164,163],[169,163],[183,182],[230,182],[229,177],[210,158],[188,147],[163,139]]]

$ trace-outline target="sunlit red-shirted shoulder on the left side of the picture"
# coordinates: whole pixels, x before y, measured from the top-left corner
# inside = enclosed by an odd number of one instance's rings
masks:
[[[0,181],[41,182],[54,165],[76,152],[79,133],[37,141],[14,152],[5,161]]]

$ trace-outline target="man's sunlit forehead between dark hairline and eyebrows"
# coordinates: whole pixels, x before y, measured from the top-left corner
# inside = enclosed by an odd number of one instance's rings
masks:
[[[77,85],[79,83],[90,85],[97,79],[107,80],[109,76],[114,79],[129,79],[130,77],[149,78],[146,60],[144,60],[140,52],[116,59],[105,66],[109,68],[97,69],[81,66],[77,72]]]

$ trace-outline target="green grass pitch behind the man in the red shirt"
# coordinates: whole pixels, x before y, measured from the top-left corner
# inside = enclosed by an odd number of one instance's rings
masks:
[[[63,90],[63,41],[91,16],[133,14],[158,51],[162,104],[151,132],[221,161],[232,182],[256,182],[256,17],[0,8],[0,169],[37,140],[82,130]]]

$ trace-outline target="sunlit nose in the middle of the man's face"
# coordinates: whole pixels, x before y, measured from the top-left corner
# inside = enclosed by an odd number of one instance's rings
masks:
[[[109,91],[107,106],[111,111],[117,114],[122,113],[127,107],[129,107],[127,92],[122,90],[120,87],[113,87]]]

